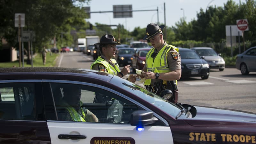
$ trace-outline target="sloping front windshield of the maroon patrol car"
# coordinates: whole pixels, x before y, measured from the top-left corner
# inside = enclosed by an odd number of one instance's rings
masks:
[[[116,81],[115,81],[116,80]],[[143,100],[148,101],[155,107],[161,109],[165,113],[171,115],[172,117],[176,117],[181,109],[174,103],[169,102],[168,100],[164,100],[163,98],[159,97],[153,92],[149,92],[147,89],[140,87],[137,84],[134,84],[129,81],[122,81],[120,84],[120,79],[115,79],[111,83],[118,84],[119,87],[122,87],[122,89],[132,92],[134,95],[140,97]]]

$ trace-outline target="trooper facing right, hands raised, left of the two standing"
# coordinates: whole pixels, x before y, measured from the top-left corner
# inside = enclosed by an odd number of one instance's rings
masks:
[[[119,65],[115,59],[113,59],[116,55],[116,45],[121,44],[120,42],[116,42],[115,37],[109,34],[106,34],[100,38],[100,43],[94,45],[100,45],[101,56],[95,60],[91,69],[100,70],[104,72],[108,72],[113,75],[117,75],[119,77],[123,77],[130,73],[130,65],[125,66],[121,71],[119,69]],[[130,75],[128,80],[131,82],[136,81],[136,75]]]

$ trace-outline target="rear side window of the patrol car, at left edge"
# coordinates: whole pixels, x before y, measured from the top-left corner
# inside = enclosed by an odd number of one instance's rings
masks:
[[[0,84],[0,119],[36,120],[35,84]]]

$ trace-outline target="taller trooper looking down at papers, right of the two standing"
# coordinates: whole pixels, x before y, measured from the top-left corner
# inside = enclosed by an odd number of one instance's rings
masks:
[[[181,76],[181,59],[179,49],[164,41],[164,27],[165,25],[158,26],[155,23],[148,24],[143,40],[148,40],[153,48],[146,55],[146,63],[142,69],[145,72],[138,76],[145,77],[146,89],[157,95],[164,89],[172,90],[173,100],[177,102],[177,80]]]

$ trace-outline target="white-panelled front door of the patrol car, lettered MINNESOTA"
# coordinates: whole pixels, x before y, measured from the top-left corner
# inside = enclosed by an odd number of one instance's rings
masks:
[[[160,136],[162,138],[168,138],[161,139],[161,143],[173,143],[171,129],[163,119],[164,122],[161,120],[154,125],[144,126],[144,131],[137,131],[136,126],[130,124],[131,113],[136,110],[149,109],[143,108],[143,106],[136,104],[132,100],[125,99],[125,96],[121,96],[122,94],[118,92],[101,86],[89,86],[83,83],[67,84],[61,81],[46,83],[44,86],[45,90],[52,91],[44,93],[52,94],[56,105],[52,107],[50,105],[53,103],[48,103],[49,108],[47,112],[51,112],[54,109],[57,112],[57,117],[47,118],[52,144],[73,142],[77,144],[159,143]],[[46,88],[48,86],[50,88]],[[57,103],[63,100],[65,88],[74,89],[74,86],[81,89],[80,100],[83,103],[82,107],[89,109],[95,114],[99,122],[74,122],[72,120],[60,119]],[[157,114],[155,115],[158,116]]]

